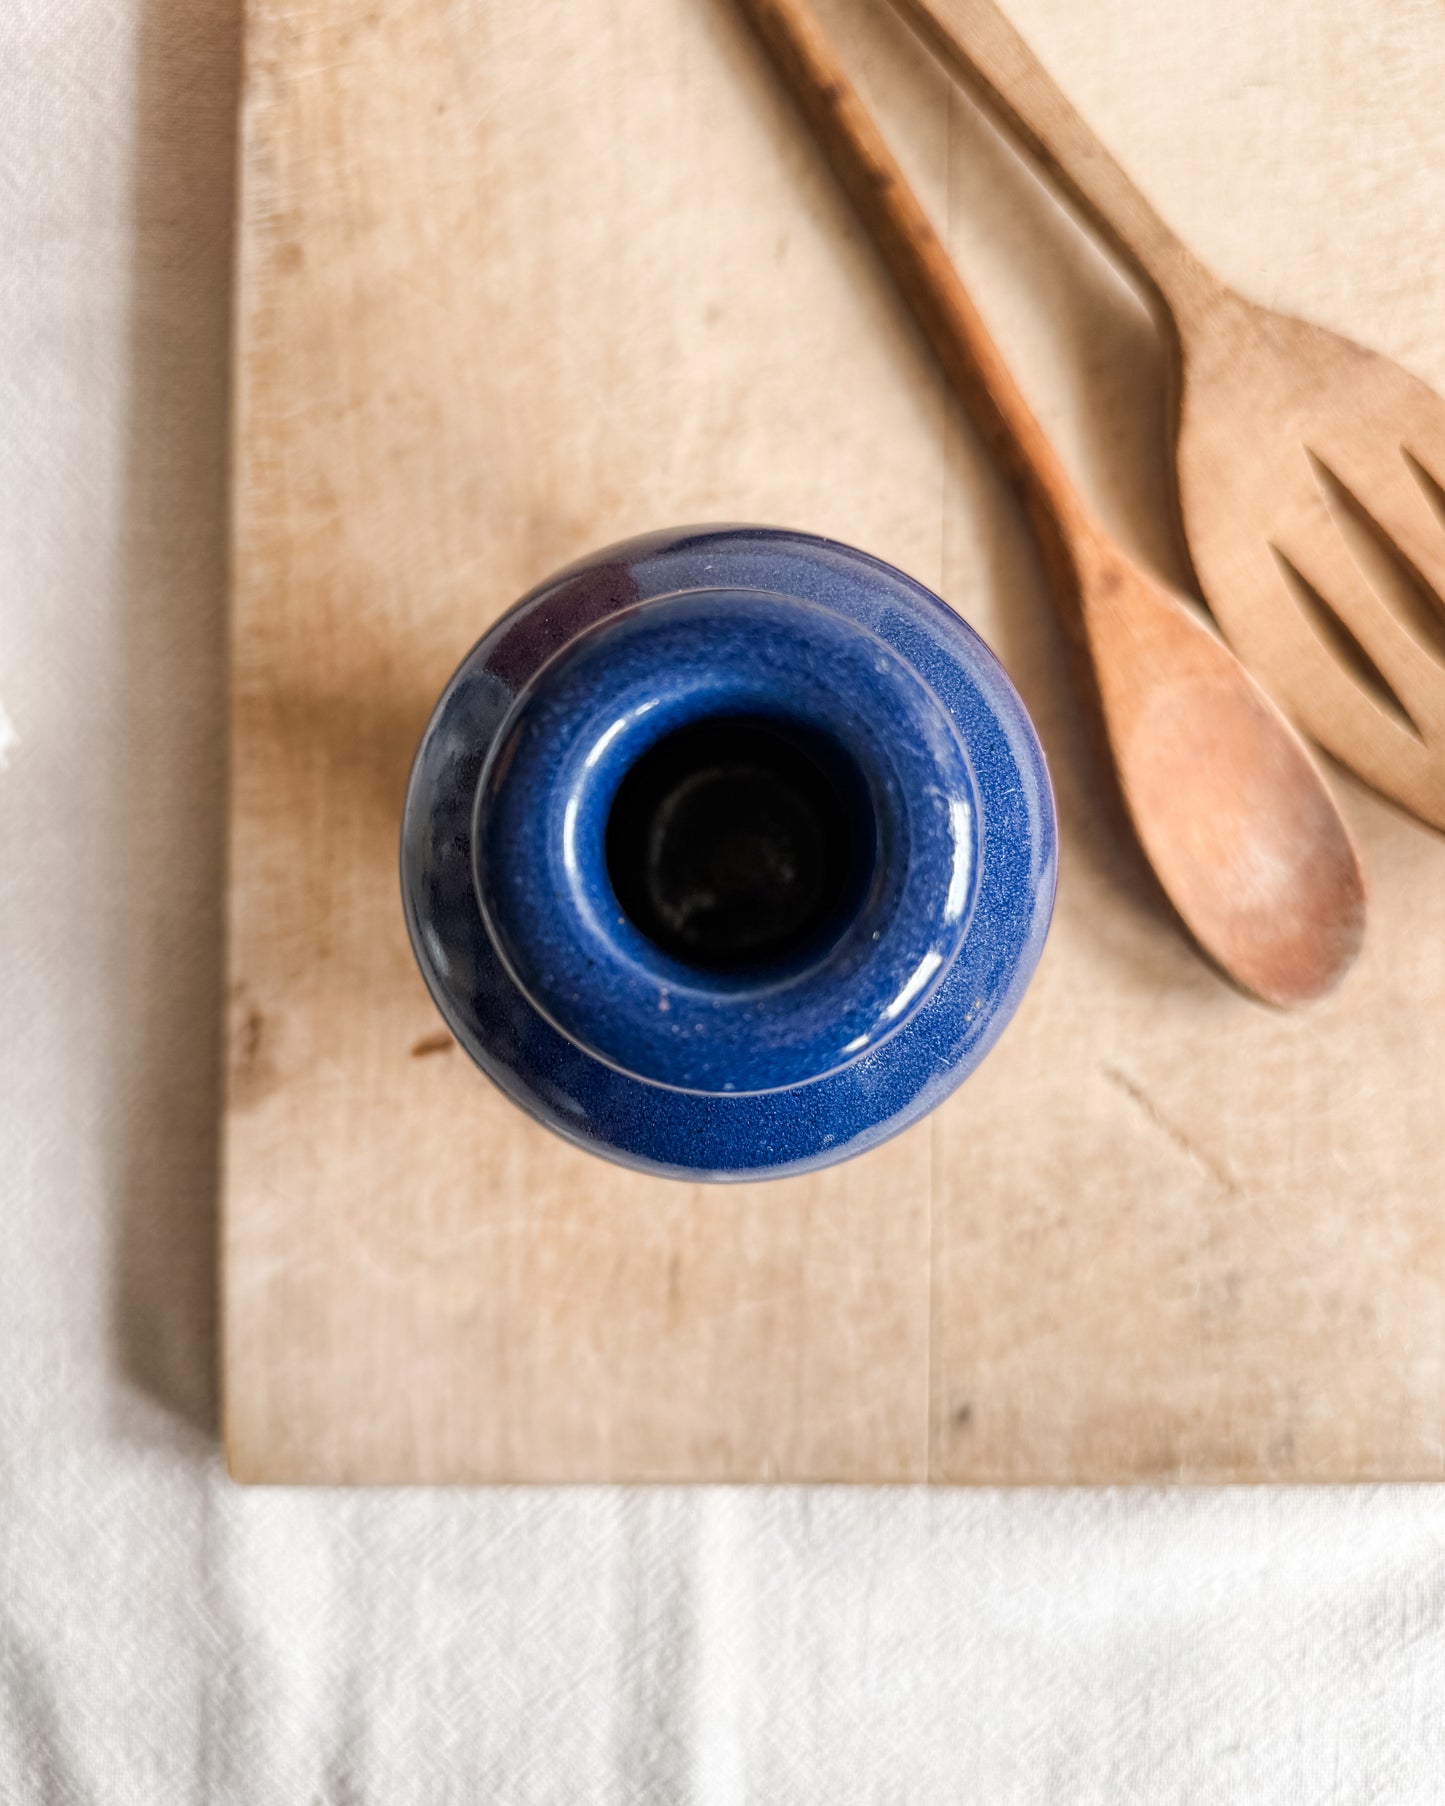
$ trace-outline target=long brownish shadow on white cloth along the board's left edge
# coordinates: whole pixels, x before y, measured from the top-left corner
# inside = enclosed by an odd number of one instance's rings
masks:
[[[137,43],[119,719],[116,1351],[217,1430],[226,444],[240,0],[148,0]]]

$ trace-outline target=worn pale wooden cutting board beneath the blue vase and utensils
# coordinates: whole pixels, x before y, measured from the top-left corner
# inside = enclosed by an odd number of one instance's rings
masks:
[[[1082,486],[1178,580],[1145,316],[887,9],[824,11]],[[1013,16],[1221,275],[1445,386],[1445,14]],[[728,0],[251,0],[242,132],[233,1472],[1445,1472],[1445,840],[1342,778],[1373,876],[1344,991],[1291,1019],[1201,964],[1102,800],[1022,524]],[[410,755],[471,641],[692,520],[939,589],[1062,816],[997,1053],[771,1185],[524,1120],[444,1035],[397,896]]]

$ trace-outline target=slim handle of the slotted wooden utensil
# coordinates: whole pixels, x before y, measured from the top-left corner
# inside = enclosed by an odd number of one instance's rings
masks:
[[[1039,159],[1152,296],[1176,309],[1214,278],[1075,112],[993,0],[892,0],[939,61]]]

